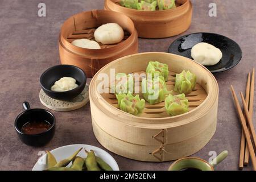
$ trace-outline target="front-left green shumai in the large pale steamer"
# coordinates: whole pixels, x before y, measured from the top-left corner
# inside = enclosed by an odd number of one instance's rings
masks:
[[[117,97],[119,108],[126,113],[140,115],[145,107],[145,100],[141,100],[139,95],[134,97],[131,93],[119,93],[115,96]]]

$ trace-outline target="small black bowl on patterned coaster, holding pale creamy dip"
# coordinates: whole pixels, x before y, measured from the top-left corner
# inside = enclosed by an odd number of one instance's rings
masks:
[[[79,85],[73,90],[66,92],[54,92],[51,90],[52,85],[62,77],[72,77],[76,79],[76,84]],[[56,100],[70,101],[78,96],[85,88],[86,75],[82,69],[73,65],[56,65],[45,71],[40,77],[41,87],[49,97]]]

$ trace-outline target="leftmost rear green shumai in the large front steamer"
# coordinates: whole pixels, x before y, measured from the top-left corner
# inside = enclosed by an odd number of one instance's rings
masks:
[[[111,93],[129,93],[129,91],[133,93],[133,76],[126,75],[126,73],[117,73],[117,75],[115,75],[114,85],[111,85]]]

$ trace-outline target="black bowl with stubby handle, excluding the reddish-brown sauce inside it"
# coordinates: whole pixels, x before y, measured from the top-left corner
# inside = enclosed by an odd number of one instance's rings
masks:
[[[53,138],[55,133],[54,115],[48,110],[44,109],[30,109],[28,102],[24,102],[23,107],[25,111],[18,115],[14,123],[16,133],[18,134],[20,140],[22,140],[22,142],[28,146],[39,147],[46,145]],[[47,121],[51,127],[49,127],[49,129],[44,133],[35,135],[24,134],[22,132],[22,127],[29,121]]]

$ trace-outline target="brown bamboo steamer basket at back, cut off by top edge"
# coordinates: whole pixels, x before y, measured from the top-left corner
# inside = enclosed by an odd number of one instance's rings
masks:
[[[177,0],[176,8],[162,11],[141,11],[122,7],[119,0],[105,0],[105,10],[129,16],[141,38],[167,38],[188,30],[192,19],[192,3]]]

